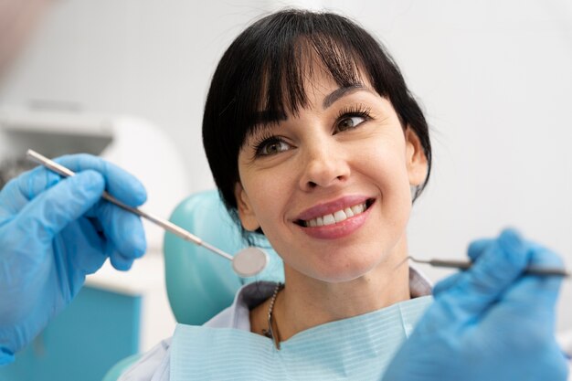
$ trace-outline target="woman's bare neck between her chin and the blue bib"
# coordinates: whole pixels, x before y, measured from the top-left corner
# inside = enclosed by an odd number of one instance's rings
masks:
[[[273,316],[281,341],[313,326],[372,312],[410,299],[405,239],[365,275],[344,282],[316,280],[284,265],[286,287]]]

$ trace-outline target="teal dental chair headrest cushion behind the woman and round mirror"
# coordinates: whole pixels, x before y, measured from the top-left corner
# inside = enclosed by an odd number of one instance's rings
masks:
[[[204,241],[234,255],[248,245],[238,224],[228,215],[217,191],[185,198],[170,220]],[[258,235],[257,235],[258,236]],[[256,246],[270,257],[269,266],[252,278],[240,278],[224,259],[202,247],[164,236],[164,263],[167,295],[178,323],[200,325],[228,307],[242,285],[254,280],[283,281],[281,258],[266,238],[257,237]]]

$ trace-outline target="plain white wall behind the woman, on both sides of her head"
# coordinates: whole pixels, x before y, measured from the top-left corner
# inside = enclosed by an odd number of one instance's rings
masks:
[[[217,59],[254,16],[294,4],[244,3],[62,1],[0,101],[75,101],[143,116],[175,140],[195,178],[191,190],[211,187],[200,123]],[[461,257],[471,239],[514,226],[572,266],[572,3],[295,4],[359,20],[384,41],[424,104],[435,163],[409,228],[412,255]],[[434,279],[446,273],[429,270]],[[561,329],[572,329],[571,300],[568,281]]]

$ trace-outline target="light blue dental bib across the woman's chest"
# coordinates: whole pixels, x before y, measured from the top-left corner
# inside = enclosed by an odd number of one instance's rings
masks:
[[[280,350],[260,334],[178,324],[171,380],[379,380],[432,300],[324,323],[281,342]]]

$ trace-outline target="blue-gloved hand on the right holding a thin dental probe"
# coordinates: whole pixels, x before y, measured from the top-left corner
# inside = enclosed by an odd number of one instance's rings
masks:
[[[387,381],[566,381],[555,340],[561,279],[524,275],[562,266],[514,230],[473,242],[471,270],[440,282],[435,302],[387,368]]]

